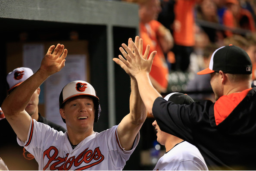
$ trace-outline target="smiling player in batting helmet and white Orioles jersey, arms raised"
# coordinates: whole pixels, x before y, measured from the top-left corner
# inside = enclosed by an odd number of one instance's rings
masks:
[[[142,47],[138,37],[135,42]],[[94,88],[85,81],[67,84],[59,96],[59,111],[67,132],[58,132],[31,119],[25,111],[34,90],[65,65],[64,45],[58,44],[53,49],[54,45],[39,70],[3,101],[3,112],[17,134],[19,145],[34,155],[39,170],[122,170],[137,146],[139,130],[147,116],[135,79],[131,77],[130,113],[119,125],[100,133],[93,131],[94,121],[100,115]]]

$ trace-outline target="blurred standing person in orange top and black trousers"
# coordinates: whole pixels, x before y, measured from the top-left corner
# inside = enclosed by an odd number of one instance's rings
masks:
[[[173,38],[175,54],[175,71],[186,71],[190,63],[190,54],[195,44],[194,8],[202,0],[176,0]]]

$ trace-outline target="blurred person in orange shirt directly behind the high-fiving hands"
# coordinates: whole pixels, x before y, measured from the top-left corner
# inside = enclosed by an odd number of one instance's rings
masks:
[[[165,93],[168,87],[169,68],[164,53],[173,47],[173,38],[169,29],[156,21],[161,11],[159,0],[124,0],[139,5],[140,37],[143,39],[143,49],[150,45],[150,53],[157,54],[153,60],[150,81],[159,93]],[[143,52],[144,53],[144,52]]]

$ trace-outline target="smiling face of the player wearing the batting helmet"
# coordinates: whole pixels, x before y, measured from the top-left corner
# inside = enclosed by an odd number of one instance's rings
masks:
[[[90,96],[76,96],[69,99],[62,109],[67,129],[76,132],[92,132],[94,126],[94,102]]]

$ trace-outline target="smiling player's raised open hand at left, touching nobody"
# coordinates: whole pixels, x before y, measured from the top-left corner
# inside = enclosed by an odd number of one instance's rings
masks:
[[[40,66],[40,70],[48,76],[59,72],[64,67],[68,54],[68,50],[64,49],[63,44],[57,44],[55,49],[54,47],[54,45],[50,46]]]

